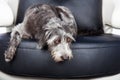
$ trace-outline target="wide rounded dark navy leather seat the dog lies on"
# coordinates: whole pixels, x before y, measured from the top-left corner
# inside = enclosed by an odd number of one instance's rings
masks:
[[[0,34],[0,70],[18,76],[79,78],[120,72],[120,36],[78,36],[71,46],[73,59],[55,63],[47,49],[36,48],[34,39],[22,40],[14,60],[4,61],[10,33]]]

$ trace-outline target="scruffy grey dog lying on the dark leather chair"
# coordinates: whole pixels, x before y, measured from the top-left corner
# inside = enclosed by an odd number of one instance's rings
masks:
[[[22,38],[35,38],[42,49],[46,44],[56,62],[73,57],[70,44],[77,26],[71,11],[64,6],[37,4],[27,9],[22,23],[13,28],[5,61],[10,62]]]

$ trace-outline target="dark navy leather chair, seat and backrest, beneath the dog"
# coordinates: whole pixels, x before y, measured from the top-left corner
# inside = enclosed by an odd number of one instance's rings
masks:
[[[102,34],[102,0],[20,0],[17,23],[28,6],[36,3],[64,5],[75,15],[79,35],[72,45],[74,58],[55,63],[49,52],[36,49],[36,41],[22,40],[14,60],[4,61],[10,33],[0,34],[0,70],[17,76],[83,78],[120,72],[120,36]],[[81,33],[93,36],[81,36]],[[87,34],[86,34],[87,35]]]

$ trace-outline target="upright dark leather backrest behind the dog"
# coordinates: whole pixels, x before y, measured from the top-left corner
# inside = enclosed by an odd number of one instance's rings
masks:
[[[68,7],[75,16],[78,32],[84,35],[103,33],[102,0],[20,0],[16,24],[22,22],[25,10],[34,4]]]

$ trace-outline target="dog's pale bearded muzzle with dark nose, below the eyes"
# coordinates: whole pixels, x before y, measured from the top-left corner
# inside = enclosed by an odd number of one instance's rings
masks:
[[[72,51],[67,43],[60,43],[57,46],[49,47],[51,55],[55,62],[64,61],[73,57]]]

